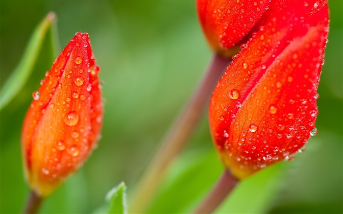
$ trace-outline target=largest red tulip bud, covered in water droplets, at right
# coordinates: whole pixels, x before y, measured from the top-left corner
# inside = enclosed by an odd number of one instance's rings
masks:
[[[301,152],[317,134],[326,0],[273,0],[213,92],[209,120],[237,178]]]

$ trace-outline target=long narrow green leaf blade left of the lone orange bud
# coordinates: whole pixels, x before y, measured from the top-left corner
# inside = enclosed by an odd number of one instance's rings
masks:
[[[12,71],[0,92],[0,110],[3,109],[24,86],[35,65],[42,43],[51,23],[55,20],[55,14],[50,12],[45,19],[35,28],[25,53],[18,66]],[[54,31],[54,30],[52,30]]]

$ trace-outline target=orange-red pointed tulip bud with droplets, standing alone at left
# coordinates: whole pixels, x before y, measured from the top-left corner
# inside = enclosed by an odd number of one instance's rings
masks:
[[[99,139],[103,107],[98,72],[88,34],[78,32],[33,93],[22,152],[28,183],[41,196],[77,170]]]

